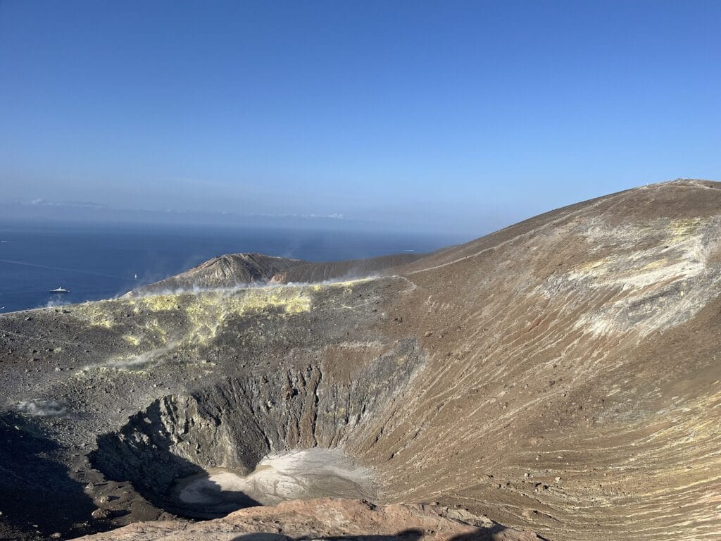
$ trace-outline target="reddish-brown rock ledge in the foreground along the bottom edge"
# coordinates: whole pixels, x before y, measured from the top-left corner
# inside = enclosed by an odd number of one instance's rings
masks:
[[[463,516],[464,520],[451,516]],[[466,522],[469,521],[469,522]],[[314,538],[348,541],[535,541],[531,532],[505,528],[487,517],[439,506],[373,506],[360,500],[288,501],[253,507],[196,524],[131,524],[84,541],[295,541]]]

